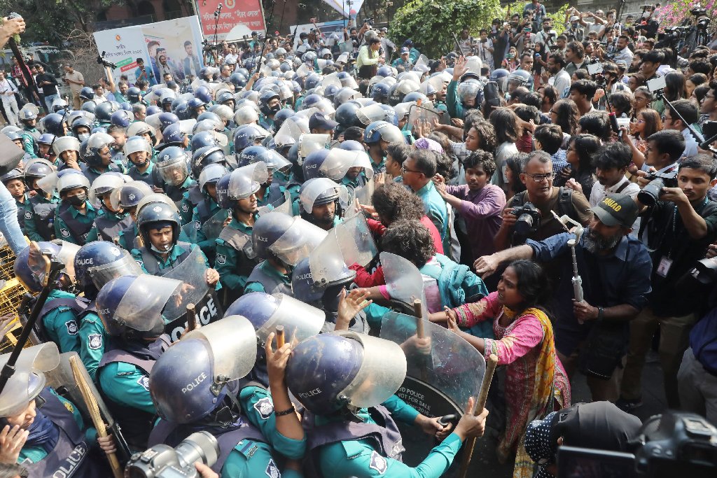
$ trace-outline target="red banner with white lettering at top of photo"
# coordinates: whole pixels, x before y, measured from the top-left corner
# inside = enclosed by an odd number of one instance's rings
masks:
[[[250,37],[252,32],[266,33],[264,11],[260,0],[197,0],[197,11],[201,20],[201,33],[209,42],[234,42]],[[215,15],[217,6],[222,5]],[[216,25],[216,28],[215,28]]]

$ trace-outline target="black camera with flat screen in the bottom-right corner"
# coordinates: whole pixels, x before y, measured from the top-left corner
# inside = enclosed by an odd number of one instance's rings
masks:
[[[717,429],[696,414],[668,411],[652,416],[628,445],[635,453],[561,446],[558,478],[706,478],[717,474]]]

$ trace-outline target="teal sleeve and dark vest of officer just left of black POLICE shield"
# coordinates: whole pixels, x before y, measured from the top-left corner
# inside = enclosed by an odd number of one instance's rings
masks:
[[[169,347],[169,337],[162,335],[154,343],[142,344],[144,348],[132,345],[133,350],[123,350],[114,341],[108,344],[98,367],[98,388],[130,448],[144,450],[156,416],[149,373]]]

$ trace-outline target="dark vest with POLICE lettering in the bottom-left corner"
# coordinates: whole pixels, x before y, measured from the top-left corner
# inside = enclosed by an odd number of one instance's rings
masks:
[[[60,431],[54,449],[37,463],[24,462],[21,465],[29,471],[29,477],[100,477],[103,469],[91,457],[87,457],[90,446],[85,443],[85,434],[77,426],[64,403],[54,396],[49,388],[40,392],[44,403],[40,411]]]

